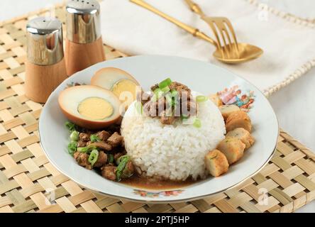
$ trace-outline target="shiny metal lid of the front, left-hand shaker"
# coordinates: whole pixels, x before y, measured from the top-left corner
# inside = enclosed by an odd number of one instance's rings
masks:
[[[54,65],[63,58],[62,23],[38,17],[26,25],[28,60],[35,65]]]

